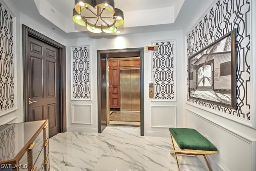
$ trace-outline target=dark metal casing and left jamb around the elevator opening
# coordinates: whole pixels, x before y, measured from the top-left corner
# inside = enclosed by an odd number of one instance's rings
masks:
[[[110,58],[130,58],[139,57],[140,61],[140,135],[144,135],[144,80],[143,80],[143,61],[144,48],[98,50],[97,51],[97,70],[98,70],[98,133],[104,131],[108,125],[108,65]]]

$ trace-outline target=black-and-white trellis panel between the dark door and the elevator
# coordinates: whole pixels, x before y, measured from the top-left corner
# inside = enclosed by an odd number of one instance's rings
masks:
[[[90,46],[72,47],[72,99],[90,99]]]

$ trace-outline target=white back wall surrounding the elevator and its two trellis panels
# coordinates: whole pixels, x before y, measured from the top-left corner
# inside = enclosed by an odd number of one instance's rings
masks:
[[[169,131],[167,127],[152,127],[152,121],[162,123],[162,125],[167,125],[168,123],[175,123],[176,126],[183,126],[183,111],[184,111],[184,89],[183,84],[184,75],[184,39],[183,31],[169,31],[169,32],[152,32],[144,34],[129,34],[120,36],[111,36],[108,38],[80,38],[72,39],[68,41],[67,50],[70,50],[70,46],[81,46],[90,45],[91,51],[91,101],[71,101],[71,88],[70,88],[70,54],[67,56],[67,127],[68,131],[97,131],[97,50],[107,50],[107,49],[120,49],[120,48],[140,48],[144,46],[149,46],[153,40],[176,40],[176,78],[177,78],[177,101],[176,102],[152,102],[148,97],[148,80],[151,79],[151,52],[144,52],[144,133],[145,135],[155,135],[155,136],[169,136]],[[91,118],[92,124],[74,124],[71,123],[71,105],[72,104],[83,104],[92,105],[91,107]],[[153,105],[153,106],[152,106]],[[175,110],[177,106],[177,110]],[[166,110],[167,107],[167,110]],[[169,110],[169,113],[166,112]],[[152,117],[152,109],[154,111],[154,116]],[[174,113],[177,115],[177,122],[173,120]],[[84,117],[88,117],[87,114]],[[156,118],[154,120],[154,118]],[[86,119],[84,118],[84,121]]]

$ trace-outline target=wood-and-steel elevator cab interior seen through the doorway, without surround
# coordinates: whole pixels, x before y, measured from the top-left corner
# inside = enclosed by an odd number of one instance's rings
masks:
[[[140,57],[108,59],[108,125],[140,126]]]

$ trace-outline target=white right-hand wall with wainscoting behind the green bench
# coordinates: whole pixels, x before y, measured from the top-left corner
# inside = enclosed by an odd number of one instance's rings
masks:
[[[250,1],[252,6],[252,27],[255,27],[256,24],[256,2]],[[199,10],[199,9],[198,9]],[[207,10],[208,12],[209,10]],[[201,16],[206,12],[205,8],[200,10]],[[201,17],[200,17],[201,18]],[[197,21],[200,18],[195,18],[194,21],[188,23],[187,27],[184,28],[186,32],[184,35],[187,35],[189,30],[193,28]],[[256,30],[251,29],[251,51],[252,57],[255,56],[256,52]],[[252,60],[253,72],[251,72],[252,80],[255,80],[256,74],[256,62]],[[186,67],[185,67],[186,70]],[[186,75],[182,76],[186,78]],[[184,80],[186,84],[186,80]],[[255,95],[255,81],[252,82],[252,85],[248,84],[252,88],[254,95],[252,99],[247,99],[252,101],[251,107],[251,119],[255,121],[256,113],[256,95]],[[250,126],[246,126],[245,122],[241,120],[232,121],[230,117],[235,117],[230,115],[229,117],[222,117],[221,112],[216,112],[214,109],[204,107],[202,105],[194,104],[188,102],[185,104],[184,111],[185,127],[190,127],[197,129],[202,135],[207,137],[216,147],[218,148],[218,154],[209,155],[210,163],[212,165],[212,170],[225,170],[225,171],[255,171],[256,170],[256,129],[253,129]],[[219,114],[219,115],[217,115]],[[222,115],[222,116],[221,116]],[[240,123],[239,123],[240,122]],[[243,124],[244,123],[244,124]],[[252,123],[252,125],[255,123]],[[205,163],[204,161],[202,161]]]

